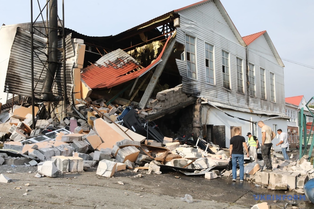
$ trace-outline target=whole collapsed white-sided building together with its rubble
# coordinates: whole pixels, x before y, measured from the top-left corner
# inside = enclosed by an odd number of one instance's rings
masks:
[[[284,65],[272,41],[266,31],[241,37],[219,0],[173,10],[114,36],[65,29],[64,42],[57,34],[65,56],[57,52],[48,92],[54,98],[48,101],[41,97],[50,62],[47,33],[32,38],[29,25],[0,29],[1,37],[13,34],[0,65],[4,92],[13,94],[1,113],[2,140],[10,141],[2,163],[41,161],[39,173],[51,177],[98,164],[97,173],[109,177],[126,167],[158,173],[169,166],[214,178],[228,164],[224,148],[234,128],[261,136],[259,120],[274,130],[287,126]],[[257,161],[246,159],[252,160]],[[297,189],[313,177],[307,159],[273,160],[284,176],[294,175],[289,185],[278,171],[257,172],[263,162],[247,165],[246,179],[271,189]],[[208,174],[213,168],[220,171]]]

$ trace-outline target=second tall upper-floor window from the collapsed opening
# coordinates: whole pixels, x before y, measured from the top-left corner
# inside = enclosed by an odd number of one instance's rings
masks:
[[[205,43],[205,76],[206,83],[214,84],[214,46]]]

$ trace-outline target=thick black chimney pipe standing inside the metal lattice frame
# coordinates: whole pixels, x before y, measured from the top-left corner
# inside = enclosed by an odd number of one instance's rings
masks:
[[[58,64],[58,1],[49,1],[49,48],[48,48],[48,69],[43,83],[41,99],[44,101],[53,101],[54,96],[51,88],[57,70]]]

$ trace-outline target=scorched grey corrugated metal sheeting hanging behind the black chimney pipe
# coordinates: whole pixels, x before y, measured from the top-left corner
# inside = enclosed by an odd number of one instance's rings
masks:
[[[68,35],[67,40],[71,40],[71,34]],[[68,42],[71,47],[67,47],[73,51],[72,43]],[[46,68],[44,67],[46,55],[42,52],[45,52],[46,49],[43,48],[46,46],[46,39],[34,35],[34,46],[40,47],[38,50],[35,50],[34,53],[34,85],[35,85],[35,97],[40,97],[40,92],[42,90],[42,84],[46,76]],[[61,47],[58,46],[59,48]],[[42,51],[42,52],[41,52]],[[68,51],[66,51],[67,53]],[[61,54],[61,52],[58,52]],[[5,80],[5,92],[15,93],[23,96],[31,97],[31,57],[30,57],[30,32],[25,31],[21,28],[17,28],[17,32],[14,38],[14,42],[11,48],[10,59],[8,63],[8,71]],[[69,52],[71,54],[71,51]],[[61,57],[58,55],[58,57]],[[72,89],[73,89],[73,79],[72,79],[72,67],[73,61],[66,62],[66,80],[67,80],[67,95],[72,102]],[[52,92],[55,94],[62,93],[62,78],[63,70],[62,63],[57,69],[56,73],[56,82],[52,87]],[[36,85],[37,83],[37,85]]]

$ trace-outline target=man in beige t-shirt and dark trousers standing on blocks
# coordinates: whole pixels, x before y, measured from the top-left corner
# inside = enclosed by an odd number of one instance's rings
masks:
[[[262,157],[264,163],[266,165],[266,170],[264,171],[272,171],[272,158],[270,156],[270,149],[272,148],[272,140],[275,138],[276,134],[273,132],[272,128],[268,125],[265,125],[263,121],[258,121],[257,125],[262,128]]]

